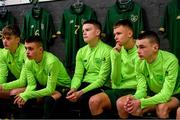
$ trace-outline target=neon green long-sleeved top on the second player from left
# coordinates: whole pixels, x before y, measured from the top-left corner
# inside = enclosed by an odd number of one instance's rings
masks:
[[[31,98],[38,98],[51,95],[56,86],[70,87],[70,77],[62,62],[49,52],[43,52],[40,63],[28,60],[25,63],[27,76],[27,87],[20,96],[27,101]],[[36,85],[40,84],[44,88],[37,90]]]

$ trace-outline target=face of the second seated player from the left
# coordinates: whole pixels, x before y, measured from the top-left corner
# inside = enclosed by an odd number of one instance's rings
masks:
[[[38,59],[39,55],[40,55],[40,52],[42,52],[42,47],[40,47],[35,42],[32,42],[32,43],[25,42],[25,48],[26,48],[26,55],[30,60]]]

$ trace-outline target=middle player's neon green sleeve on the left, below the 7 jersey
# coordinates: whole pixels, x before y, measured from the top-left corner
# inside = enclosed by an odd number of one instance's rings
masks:
[[[71,89],[78,89],[81,85],[81,81],[84,75],[84,66],[81,58],[81,49],[78,51],[76,56],[76,68],[73,79],[71,81]]]

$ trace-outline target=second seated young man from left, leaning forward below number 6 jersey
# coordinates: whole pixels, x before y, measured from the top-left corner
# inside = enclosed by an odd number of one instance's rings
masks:
[[[14,104],[21,108],[21,118],[33,115],[27,111],[35,104],[43,101],[43,118],[51,118],[53,108],[61,96],[66,95],[70,87],[70,77],[60,60],[53,54],[43,51],[41,38],[30,37],[25,40],[28,60],[24,65],[27,87],[23,93],[15,97]]]

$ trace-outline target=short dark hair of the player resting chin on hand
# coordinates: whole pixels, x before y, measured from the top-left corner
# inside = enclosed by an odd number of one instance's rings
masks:
[[[113,28],[115,29],[115,28],[117,28],[117,27],[119,27],[119,26],[126,26],[126,27],[128,27],[128,28],[133,32],[133,25],[132,25],[131,21],[128,20],[128,19],[124,19],[124,20],[119,20],[119,21],[117,21],[117,22],[114,24]]]

